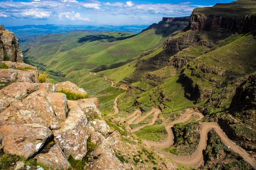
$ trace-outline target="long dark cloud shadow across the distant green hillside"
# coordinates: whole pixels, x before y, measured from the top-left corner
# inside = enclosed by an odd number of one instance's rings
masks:
[[[132,38],[138,34],[134,34],[132,36],[126,36],[126,37],[114,37],[114,36],[108,36],[104,34],[100,35],[90,35],[90,36],[84,36],[82,38],[79,38],[78,43],[84,43],[84,42],[93,42],[97,40],[107,40],[106,42],[114,42],[114,41],[120,41],[125,40],[128,38]]]

